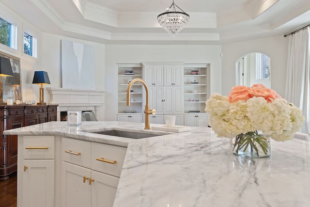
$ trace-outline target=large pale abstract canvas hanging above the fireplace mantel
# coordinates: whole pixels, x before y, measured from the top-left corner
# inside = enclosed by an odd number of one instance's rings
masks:
[[[94,89],[93,46],[62,40],[62,88]]]

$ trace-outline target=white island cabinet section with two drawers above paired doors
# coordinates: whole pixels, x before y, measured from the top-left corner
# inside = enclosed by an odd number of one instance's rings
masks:
[[[62,207],[111,207],[126,148],[62,138]]]

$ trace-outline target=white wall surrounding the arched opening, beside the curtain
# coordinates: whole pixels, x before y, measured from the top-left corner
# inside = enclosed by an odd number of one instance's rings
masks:
[[[235,62],[249,52],[261,52],[270,57],[271,88],[285,94],[288,37],[283,35],[236,42],[222,46],[222,95],[228,96],[235,83]]]

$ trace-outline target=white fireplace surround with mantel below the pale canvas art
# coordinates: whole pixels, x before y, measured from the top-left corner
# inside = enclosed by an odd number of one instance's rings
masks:
[[[46,88],[49,93],[47,104],[58,104],[57,121],[61,111],[93,111],[98,121],[104,121],[105,91],[98,89]]]

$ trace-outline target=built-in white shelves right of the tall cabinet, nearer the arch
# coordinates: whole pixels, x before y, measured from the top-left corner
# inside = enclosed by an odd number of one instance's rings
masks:
[[[198,71],[198,74],[191,74]],[[205,101],[210,94],[210,64],[184,65],[184,113],[205,113]]]

